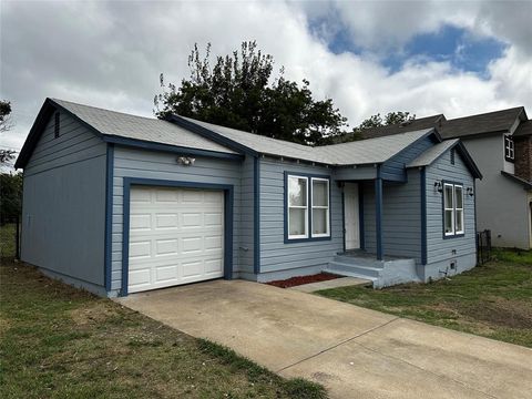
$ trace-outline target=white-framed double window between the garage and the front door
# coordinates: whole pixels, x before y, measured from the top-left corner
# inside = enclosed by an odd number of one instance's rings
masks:
[[[329,180],[287,175],[286,239],[330,237]]]

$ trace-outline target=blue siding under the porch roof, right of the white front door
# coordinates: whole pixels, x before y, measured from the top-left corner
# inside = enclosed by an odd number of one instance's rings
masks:
[[[375,185],[364,185],[365,244],[377,252],[375,229]],[[382,246],[385,256],[401,256],[421,262],[420,173],[408,171],[408,183],[385,183],[382,190]]]

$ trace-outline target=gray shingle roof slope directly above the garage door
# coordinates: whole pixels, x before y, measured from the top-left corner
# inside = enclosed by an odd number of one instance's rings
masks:
[[[52,99],[52,101],[65,108],[105,135],[236,154],[236,152],[231,149],[202,137],[171,122],[103,110],[64,100]]]

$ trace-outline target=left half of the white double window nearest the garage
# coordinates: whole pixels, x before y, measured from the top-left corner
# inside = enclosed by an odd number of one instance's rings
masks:
[[[288,176],[288,238],[308,237],[308,177]]]

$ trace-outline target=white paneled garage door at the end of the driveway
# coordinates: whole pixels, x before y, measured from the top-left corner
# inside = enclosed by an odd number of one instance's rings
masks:
[[[131,188],[129,293],[223,275],[222,191]]]

